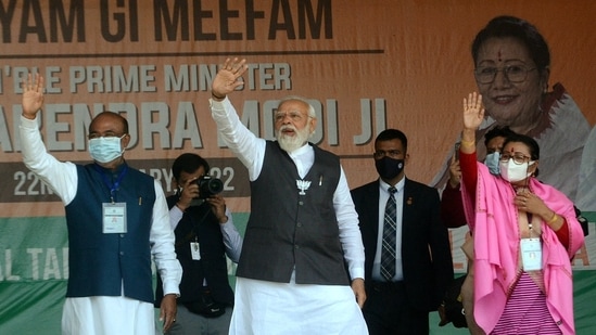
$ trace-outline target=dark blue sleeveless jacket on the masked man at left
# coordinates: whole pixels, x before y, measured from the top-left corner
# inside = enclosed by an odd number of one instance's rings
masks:
[[[110,186],[123,173],[114,202],[126,203],[126,233],[102,232],[102,204],[111,202]],[[78,185],[66,207],[69,278],[67,297],[124,295],[153,304],[149,233],[154,180],[123,164],[116,171],[96,164],[77,165]]]

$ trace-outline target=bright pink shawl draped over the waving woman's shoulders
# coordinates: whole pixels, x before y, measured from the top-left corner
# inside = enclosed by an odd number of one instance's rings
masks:
[[[474,239],[474,318],[486,332],[498,322],[507,296],[513,288],[519,263],[518,210],[515,191],[500,177],[492,176],[478,163],[475,195],[461,186],[466,218]],[[569,248],[555,232],[542,222],[543,274],[547,306],[562,334],[574,334],[573,282],[570,259],[584,243],[584,235],[573,210],[573,204],[554,188],[530,179],[530,190],[567,220]],[[475,201],[475,211],[474,204]]]

